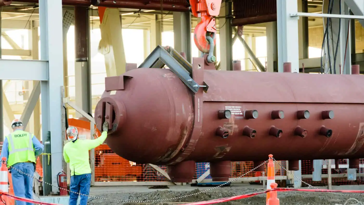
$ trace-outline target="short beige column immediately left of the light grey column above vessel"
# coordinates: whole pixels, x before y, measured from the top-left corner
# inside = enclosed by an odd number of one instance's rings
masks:
[[[277,21],[266,23],[267,33],[267,72],[277,71]]]

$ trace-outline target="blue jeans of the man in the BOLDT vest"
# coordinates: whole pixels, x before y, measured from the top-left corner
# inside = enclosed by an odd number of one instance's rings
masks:
[[[34,174],[34,166],[31,162],[16,163],[12,167],[29,174],[30,176],[33,176]],[[33,199],[33,178],[28,177],[15,169],[11,168],[11,178],[13,180],[15,196]],[[33,205],[33,203],[16,200],[16,205]]]

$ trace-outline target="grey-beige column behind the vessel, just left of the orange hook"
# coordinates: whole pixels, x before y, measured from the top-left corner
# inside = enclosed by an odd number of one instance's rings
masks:
[[[173,12],[174,49],[178,52],[184,52],[190,63],[192,62],[191,32],[191,13]]]

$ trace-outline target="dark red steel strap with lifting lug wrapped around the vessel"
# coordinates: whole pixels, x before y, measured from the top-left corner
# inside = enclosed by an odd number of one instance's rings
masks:
[[[203,71],[205,66],[205,59],[203,58],[193,58],[192,60],[192,78],[199,85],[203,85]],[[171,160],[170,165],[182,162],[186,159],[195,149],[198,139],[201,136],[202,131],[202,101],[203,89],[200,87],[193,97],[194,101],[194,126],[187,143],[180,152]]]

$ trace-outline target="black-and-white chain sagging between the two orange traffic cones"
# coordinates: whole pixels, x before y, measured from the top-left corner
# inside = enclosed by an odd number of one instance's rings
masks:
[[[47,184],[47,185],[53,186],[53,187],[55,187],[55,188],[57,188],[57,189],[66,190],[67,192],[71,192],[71,193],[79,194],[79,195],[82,195],[82,196],[87,196],[87,197],[97,198],[97,199],[102,199],[102,200],[108,200],[108,201],[132,202],[132,203],[144,203],[144,202],[162,202],[162,201],[176,200],[176,199],[186,198],[186,197],[194,196],[194,195],[197,195],[197,194],[201,194],[201,193],[209,192],[209,191],[211,191],[211,190],[213,190],[213,189],[217,189],[217,188],[222,187],[222,186],[224,186],[224,185],[227,185],[227,184],[229,184],[229,183],[231,183],[231,182],[233,182],[233,181],[236,181],[237,179],[239,179],[239,178],[241,178],[241,177],[244,177],[246,174],[249,174],[250,172],[254,172],[254,170],[258,169],[260,166],[263,166],[263,165],[264,165],[264,164],[266,164],[267,162],[268,162],[268,160],[267,160],[267,161],[265,161],[265,162],[263,162],[263,163],[261,163],[259,166],[255,167],[254,169],[250,170],[249,172],[246,172],[246,173],[242,174],[241,176],[239,176],[239,177],[237,177],[237,178],[234,178],[233,180],[230,180],[230,181],[228,181],[228,182],[225,182],[224,184],[221,184],[221,185],[219,185],[219,186],[215,186],[215,187],[213,187],[213,188],[203,190],[203,191],[198,192],[198,193],[188,194],[188,195],[186,195],[186,196],[181,196],[181,197],[174,197],[174,198],[167,198],[167,199],[159,199],[159,200],[146,200],[146,201],[117,200],[117,199],[102,198],[102,197],[97,197],[97,196],[91,196],[91,195],[81,194],[81,193],[77,193],[77,192],[72,192],[71,190],[64,189],[64,188],[60,188],[60,187],[58,187],[58,186],[55,186],[55,185],[49,184],[49,183],[47,183],[47,182],[43,182],[42,180],[39,180],[39,179],[37,179],[37,178],[35,178],[35,177],[33,177],[33,176],[30,176],[29,174],[24,173],[24,172],[22,172],[21,170],[16,169],[16,168],[14,168],[14,167],[12,167],[12,166],[11,166],[11,168],[12,168],[12,169],[17,170],[18,172],[20,172],[20,173],[22,173],[22,174],[24,174],[25,176],[31,177],[31,178],[33,178],[34,180],[37,180],[37,181],[42,182],[42,183],[44,183],[44,184]],[[7,163],[6,163],[5,161],[3,161],[3,160],[1,160],[1,163],[4,163],[5,165],[7,165]]]

